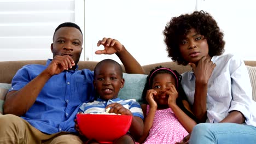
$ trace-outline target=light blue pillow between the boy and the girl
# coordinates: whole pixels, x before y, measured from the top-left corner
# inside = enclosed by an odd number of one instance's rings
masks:
[[[123,73],[124,87],[120,89],[118,97],[121,99],[136,99],[139,101],[148,75]]]

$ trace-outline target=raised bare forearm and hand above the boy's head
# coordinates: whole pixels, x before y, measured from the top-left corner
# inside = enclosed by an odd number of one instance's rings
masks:
[[[124,45],[122,45],[118,40],[112,38],[103,38],[99,40],[97,46],[103,45],[104,50],[97,50],[96,54],[108,54],[111,55],[115,53],[121,62],[124,64],[126,73],[134,74],[145,74],[144,69],[137,62],[137,60],[128,52]]]

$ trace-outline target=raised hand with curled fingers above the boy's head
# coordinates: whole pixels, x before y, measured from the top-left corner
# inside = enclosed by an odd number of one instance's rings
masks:
[[[97,43],[97,46],[103,45],[104,50],[97,50],[95,51],[96,54],[108,54],[111,55],[113,53],[119,52],[123,49],[123,45],[115,39],[112,38],[103,38],[102,40],[99,40]]]

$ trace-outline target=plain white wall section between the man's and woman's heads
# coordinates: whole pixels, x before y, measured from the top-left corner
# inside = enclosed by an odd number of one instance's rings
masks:
[[[115,55],[95,55],[103,37],[119,40],[141,65],[171,61],[162,31],[172,16],[194,11],[195,0],[85,1],[85,57],[89,61]],[[120,62],[120,61],[119,61]]]

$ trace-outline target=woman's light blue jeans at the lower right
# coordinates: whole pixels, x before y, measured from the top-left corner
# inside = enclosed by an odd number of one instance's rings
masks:
[[[256,127],[236,123],[200,123],[191,133],[189,144],[256,143]]]

